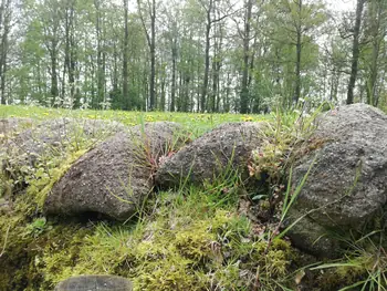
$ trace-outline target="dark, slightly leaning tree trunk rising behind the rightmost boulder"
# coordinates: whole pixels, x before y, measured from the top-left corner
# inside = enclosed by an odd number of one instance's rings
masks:
[[[360,53],[359,35],[360,35],[362,15],[363,15],[365,1],[366,0],[357,0],[357,4],[356,4],[356,20],[355,20],[355,27],[354,27],[354,41],[352,46],[352,65],[351,65],[351,76],[349,76],[348,91],[347,91],[347,102],[346,102],[347,104],[354,103],[354,89],[355,89],[356,76],[357,76],[358,58]]]

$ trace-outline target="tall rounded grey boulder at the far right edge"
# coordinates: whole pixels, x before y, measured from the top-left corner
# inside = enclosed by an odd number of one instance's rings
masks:
[[[294,167],[294,186],[314,164],[289,224],[304,217],[289,236],[303,250],[334,257],[335,235],[360,231],[386,205],[387,116],[365,104],[338,107],[318,118],[310,142]]]

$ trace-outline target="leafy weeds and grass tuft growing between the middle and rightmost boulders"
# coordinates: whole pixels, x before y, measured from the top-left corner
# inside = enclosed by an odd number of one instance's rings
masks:
[[[281,113],[278,110],[262,133],[261,145],[252,152],[252,159],[248,166],[250,176],[268,186],[252,199],[266,199],[271,211],[283,201],[285,194],[290,195],[290,189],[285,189],[289,170],[299,154],[299,148],[307,144],[306,141],[315,128],[314,121],[323,107],[324,104],[311,116],[303,116],[296,111]]]

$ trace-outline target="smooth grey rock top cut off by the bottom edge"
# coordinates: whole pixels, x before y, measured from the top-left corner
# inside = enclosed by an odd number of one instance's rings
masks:
[[[118,276],[79,276],[59,283],[54,291],[132,291],[129,280]]]

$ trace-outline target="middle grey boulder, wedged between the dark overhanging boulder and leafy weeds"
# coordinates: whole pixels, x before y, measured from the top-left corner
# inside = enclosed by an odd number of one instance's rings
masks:
[[[165,160],[156,174],[160,188],[184,181],[200,185],[229,169],[248,172],[251,152],[262,142],[264,123],[227,123],[197,138]]]

